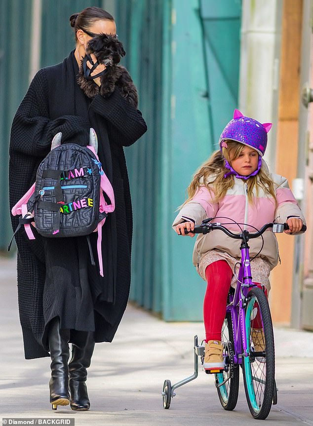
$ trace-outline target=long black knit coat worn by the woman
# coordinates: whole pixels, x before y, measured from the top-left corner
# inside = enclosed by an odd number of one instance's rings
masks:
[[[49,356],[47,324],[58,315],[61,326],[95,331],[96,342],[111,342],[125,310],[130,286],[132,210],[123,147],[147,130],[140,111],[118,88],[88,99],[77,84],[78,65],[71,52],[63,63],[40,70],[13,119],[10,139],[10,209],[36,180],[39,163],[53,136],[86,146],[89,128],[99,140],[99,159],[110,179],[116,210],[102,238],[104,278],[91,266],[85,237],[29,240],[16,234],[20,322],[25,358]],[[18,218],[11,216],[15,231]],[[91,243],[96,258],[96,238]]]

